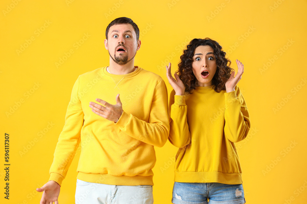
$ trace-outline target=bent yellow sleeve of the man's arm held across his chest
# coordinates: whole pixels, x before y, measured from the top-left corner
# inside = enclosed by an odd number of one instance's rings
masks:
[[[156,147],[163,147],[169,135],[167,101],[166,85],[161,79],[153,93],[148,122],[123,111],[115,124],[130,137]]]

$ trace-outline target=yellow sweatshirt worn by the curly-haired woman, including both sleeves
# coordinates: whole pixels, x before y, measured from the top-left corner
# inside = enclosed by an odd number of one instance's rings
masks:
[[[169,141],[179,148],[175,182],[242,184],[235,143],[251,127],[247,106],[238,86],[229,93],[212,87],[170,94]]]

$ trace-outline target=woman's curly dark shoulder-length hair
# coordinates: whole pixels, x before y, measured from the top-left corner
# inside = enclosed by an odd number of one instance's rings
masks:
[[[233,70],[230,68],[231,61],[225,57],[226,52],[222,50],[222,46],[215,40],[195,38],[183,50],[183,54],[180,56],[181,61],[178,63],[178,70],[176,71],[181,81],[185,84],[185,91],[191,93],[195,89],[196,77],[192,70],[193,55],[196,47],[202,45],[211,46],[216,57],[216,72],[212,78],[214,91],[219,93],[222,90],[226,90],[225,83]]]

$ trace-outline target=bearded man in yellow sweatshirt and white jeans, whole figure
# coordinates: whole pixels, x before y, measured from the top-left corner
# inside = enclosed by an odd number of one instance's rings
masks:
[[[106,38],[110,65],[76,80],[49,181],[37,188],[44,191],[40,204],[58,203],[80,142],[76,203],[153,203],[153,146],[162,147],[169,135],[166,86],[134,66],[141,41],[130,18],[113,20]]]

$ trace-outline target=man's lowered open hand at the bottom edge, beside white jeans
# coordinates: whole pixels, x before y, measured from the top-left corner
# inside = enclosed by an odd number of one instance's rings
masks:
[[[38,192],[43,192],[40,204],[53,203],[59,204],[58,198],[60,194],[60,185],[55,181],[48,181],[42,187],[36,189]]]

